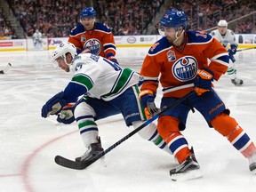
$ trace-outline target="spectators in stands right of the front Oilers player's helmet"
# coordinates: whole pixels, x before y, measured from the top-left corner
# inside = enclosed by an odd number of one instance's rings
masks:
[[[190,29],[204,31],[217,26],[219,20],[235,20],[255,12],[255,0],[180,0],[168,8],[176,7],[188,15]],[[228,25],[236,34],[256,33],[256,14]]]

